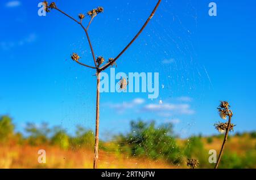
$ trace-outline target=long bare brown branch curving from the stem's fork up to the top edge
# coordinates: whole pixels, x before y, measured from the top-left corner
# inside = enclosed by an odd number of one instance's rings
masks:
[[[125,53],[125,51],[130,47],[131,44],[133,44],[133,42],[137,39],[137,37],[142,33],[143,29],[146,27],[146,25],[148,24],[148,22],[150,22],[151,18],[154,16],[156,9],[158,8],[159,4],[160,4],[161,0],[158,1],[158,3],[155,5],[154,10],[151,12],[150,16],[147,18],[146,22],[144,23],[144,25],[142,26],[142,28],[139,30],[139,32],[137,33],[137,35],[134,36],[133,40],[131,40],[129,42],[129,44],[125,47],[125,49],[122,50],[121,53],[119,53],[117,55],[117,57],[114,58],[113,62],[117,61],[117,59],[123,54]],[[102,66],[100,68],[100,71],[104,71],[106,68],[108,68],[111,65],[111,63],[106,63],[104,66]]]

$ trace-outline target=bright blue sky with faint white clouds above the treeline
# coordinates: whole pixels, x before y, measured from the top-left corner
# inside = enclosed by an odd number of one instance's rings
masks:
[[[73,132],[94,129],[96,77],[70,54],[93,65],[84,32],[52,10],[38,16],[40,1],[0,2],[0,114],[48,122]],[[55,1],[77,17],[103,6],[89,35],[94,50],[115,57],[133,38],[156,1]],[[236,131],[255,130],[256,13],[254,1],[163,1],[142,35],[117,61],[116,72],[159,72],[159,98],[147,93],[101,93],[101,137],[129,130],[131,119],[174,123],[180,136],[214,134],[220,100],[228,100]],[[89,18],[86,17],[84,22]],[[109,69],[106,72],[110,72]],[[159,101],[163,104],[159,110]],[[148,108],[151,107],[151,108]]]

